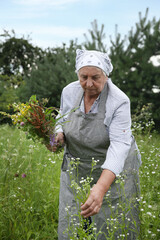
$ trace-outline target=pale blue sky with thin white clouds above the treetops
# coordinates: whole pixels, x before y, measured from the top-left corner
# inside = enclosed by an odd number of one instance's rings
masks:
[[[81,44],[96,20],[99,29],[104,24],[104,44],[109,48],[115,26],[123,37],[135,29],[139,12],[143,17],[147,8],[148,19],[160,19],[160,0],[0,0],[0,34],[14,30],[17,37],[29,36],[43,49],[76,39]]]

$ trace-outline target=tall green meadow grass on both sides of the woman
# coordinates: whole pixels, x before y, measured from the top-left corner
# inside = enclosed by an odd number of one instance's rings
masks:
[[[160,135],[136,140],[142,154],[139,239],[159,240]],[[0,127],[0,239],[57,240],[62,158],[24,132]]]

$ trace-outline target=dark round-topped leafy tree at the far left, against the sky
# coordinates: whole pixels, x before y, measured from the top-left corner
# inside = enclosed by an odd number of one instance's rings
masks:
[[[43,56],[42,49],[34,47],[29,38],[17,38],[15,32],[4,30],[0,35],[0,73],[3,75],[26,75]]]

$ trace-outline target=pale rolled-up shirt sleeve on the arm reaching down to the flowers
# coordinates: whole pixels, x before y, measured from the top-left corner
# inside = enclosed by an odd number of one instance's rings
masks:
[[[109,126],[104,121],[109,132],[110,145],[106,160],[101,166],[112,171],[115,175],[123,171],[124,163],[131,147],[131,116],[129,99],[122,102],[114,110]]]

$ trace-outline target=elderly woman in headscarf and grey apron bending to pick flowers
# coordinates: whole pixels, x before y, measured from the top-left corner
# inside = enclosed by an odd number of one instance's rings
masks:
[[[93,174],[94,185],[80,210],[90,222],[94,216],[97,232],[102,232],[97,239],[103,240],[108,236],[106,222],[111,216],[110,206],[105,200],[108,192],[113,209],[117,209],[119,202],[128,204],[125,213],[120,214],[125,214],[128,229],[125,239],[136,239],[140,155],[131,133],[130,101],[108,78],[113,67],[106,53],[80,49],[76,53],[79,80],[63,89],[60,112],[65,114],[63,121],[67,121],[59,127],[56,137],[58,144],[65,141],[59,199],[59,240],[68,239],[64,233],[69,225],[65,207],[72,207],[75,202],[67,171],[70,158],[80,159],[81,177],[90,173],[92,158],[99,160]],[[116,186],[116,179],[124,174],[122,194]],[[118,239],[120,234],[121,229],[118,229],[113,239]]]

